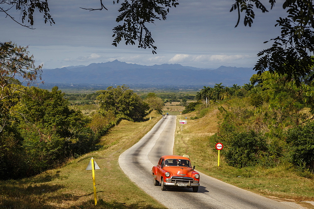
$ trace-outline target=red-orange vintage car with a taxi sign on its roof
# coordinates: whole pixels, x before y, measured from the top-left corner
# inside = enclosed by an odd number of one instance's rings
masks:
[[[187,155],[164,155],[158,165],[154,166],[151,174],[154,176],[154,185],[165,191],[168,186],[184,186],[198,191],[199,173],[191,167],[190,158]]]

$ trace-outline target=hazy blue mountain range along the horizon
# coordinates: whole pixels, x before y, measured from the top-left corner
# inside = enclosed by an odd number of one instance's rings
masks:
[[[114,60],[92,63],[88,66],[43,69],[41,77],[45,83],[200,86],[223,83],[225,86],[232,86],[249,83],[253,74],[255,74],[253,68],[220,66],[217,69],[201,69],[180,64],[146,66]]]

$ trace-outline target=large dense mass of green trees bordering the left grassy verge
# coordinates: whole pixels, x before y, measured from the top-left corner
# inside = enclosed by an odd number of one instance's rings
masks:
[[[20,179],[62,165],[68,158],[99,149],[90,119],[70,110],[57,87],[51,92],[21,87],[0,131],[0,178]],[[5,119],[5,120],[4,120]],[[2,121],[0,121],[2,122]]]

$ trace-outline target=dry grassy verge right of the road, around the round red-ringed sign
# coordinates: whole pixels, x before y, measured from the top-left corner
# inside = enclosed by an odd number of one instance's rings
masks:
[[[218,167],[216,142],[209,140],[209,136],[217,131],[217,111],[213,108],[197,120],[189,120],[196,115],[195,112],[178,115],[177,124],[179,120],[185,120],[185,117],[187,124],[183,125],[182,131],[181,125],[176,127],[174,154],[190,155],[192,164],[198,171],[268,198],[296,202],[314,201],[313,179],[300,177],[288,167],[237,169],[228,166],[222,155]],[[222,152],[223,150],[220,151]],[[314,208],[310,204],[304,206]]]

